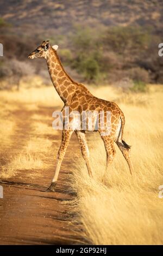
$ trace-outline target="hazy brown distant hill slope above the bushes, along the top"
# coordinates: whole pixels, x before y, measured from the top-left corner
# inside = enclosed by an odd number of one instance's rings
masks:
[[[64,34],[75,24],[151,26],[163,34],[162,0],[1,0],[0,15],[17,33]]]

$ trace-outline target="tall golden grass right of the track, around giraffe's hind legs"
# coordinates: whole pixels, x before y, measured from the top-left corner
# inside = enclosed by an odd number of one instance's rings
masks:
[[[98,90],[102,95],[104,90]],[[135,94],[130,97],[134,98]],[[163,243],[163,199],[158,198],[158,187],[163,184],[163,91],[160,87],[155,87],[155,91],[152,88],[147,97],[152,101],[145,106],[125,104],[124,99],[119,104],[126,116],[124,135],[132,145],[133,177],[116,147],[116,158],[102,183],[105,150],[97,133],[91,135],[90,143],[94,178],[87,175],[83,160],[76,164],[73,178],[73,187],[78,194],[76,211],[92,244]]]

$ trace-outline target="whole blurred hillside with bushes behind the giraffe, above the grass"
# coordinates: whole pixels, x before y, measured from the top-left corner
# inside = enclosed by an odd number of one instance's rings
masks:
[[[7,61],[1,58],[0,80],[10,73],[13,84],[18,63],[10,62],[10,67],[8,59],[28,64],[29,52],[48,39],[59,45],[64,67],[80,82],[121,87],[126,87],[126,81],[127,87],[135,82],[162,84],[163,58],[158,56],[162,13],[160,0],[1,0],[0,43]],[[27,75],[24,70],[41,75],[49,84],[44,62],[35,59],[17,74]]]

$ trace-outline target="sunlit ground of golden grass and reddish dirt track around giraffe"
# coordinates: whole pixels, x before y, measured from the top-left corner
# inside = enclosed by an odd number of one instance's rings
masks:
[[[87,135],[93,178],[87,174],[73,134],[55,193],[54,174],[61,131],[52,112],[62,103],[53,88],[0,94],[1,244],[162,245],[162,85],[148,93],[91,88],[126,116],[134,175],[118,148],[109,172],[97,133]],[[53,106],[53,107],[52,107]]]

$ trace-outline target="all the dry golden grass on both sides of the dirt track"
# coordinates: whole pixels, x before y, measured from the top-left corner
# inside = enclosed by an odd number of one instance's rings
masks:
[[[149,89],[147,94],[126,94],[112,87],[91,88],[97,97],[115,101],[123,110],[126,116],[124,135],[127,143],[132,145],[135,168],[135,175],[131,177],[116,147],[116,158],[102,183],[105,169],[104,145],[97,133],[87,134],[90,138],[94,178],[89,178],[84,160],[77,156],[72,187],[78,195],[74,209],[78,213],[77,222],[83,223],[85,236],[92,244],[163,243],[163,199],[158,198],[158,187],[163,184],[163,91],[161,86],[151,86]],[[52,116],[45,116],[39,110],[42,106],[47,110],[53,106],[54,110],[58,106],[61,108],[61,100],[53,87],[22,89],[20,92],[4,91],[0,98],[0,153],[1,159],[5,159],[1,164],[1,178],[9,178],[28,170],[30,177],[39,175],[37,170],[49,168],[45,160],[45,155],[51,153],[52,140],[49,138],[55,135],[57,139],[58,136],[58,132],[49,125]],[[23,141],[21,150],[16,148],[14,153],[12,147],[20,134],[17,134],[15,128],[18,117],[14,116],[13,111],[20,108],[26,109],[27,113],[29,111],[31,130],[26,130],[29,135],[27,140]]]

